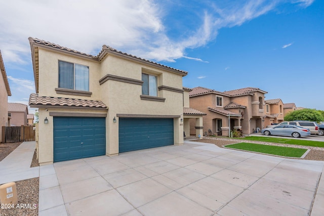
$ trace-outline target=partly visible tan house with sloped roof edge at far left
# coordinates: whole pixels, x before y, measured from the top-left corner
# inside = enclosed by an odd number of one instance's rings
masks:
[[[11,96],[8,77],[2,54],[0,51],[0,142],[2,142],[2,126],[10,126],[8,116],[8,96]]]

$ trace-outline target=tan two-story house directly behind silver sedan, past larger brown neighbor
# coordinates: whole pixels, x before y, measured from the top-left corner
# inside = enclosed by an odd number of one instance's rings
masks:
[[[265,101],[265,118],[263,127],[271,123],[284,121],[284,103],[281,99],[271,99]]]

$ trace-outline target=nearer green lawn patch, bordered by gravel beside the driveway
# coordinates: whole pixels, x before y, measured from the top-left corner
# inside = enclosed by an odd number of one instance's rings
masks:
[[[281,147],[281,146],[268,146],[255,143],[236,143],[226,145],[227,148],[247,150],[253,152],[261,152],[266,154],[280,155],[285,157],[301,157],[307,149]]]

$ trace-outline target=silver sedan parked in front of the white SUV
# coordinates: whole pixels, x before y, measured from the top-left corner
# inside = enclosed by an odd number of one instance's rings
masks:
[[[287,137],[307,137],[310,135],[310,129],[297,125],[277,125],[275,127],[263,128],[261,134],[287,136]]]

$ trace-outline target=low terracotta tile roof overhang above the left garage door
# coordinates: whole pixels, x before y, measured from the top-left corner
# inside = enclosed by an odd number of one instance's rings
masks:
[[[39,96],[37,94],[30,94],[29,106],[30,107],[65,106],[65,107],[76,107],[76,108],[85,107],[85,108],[104,108],[104,109],[107,108],[107,106],[101,101],[47,97],[47,96]]]

